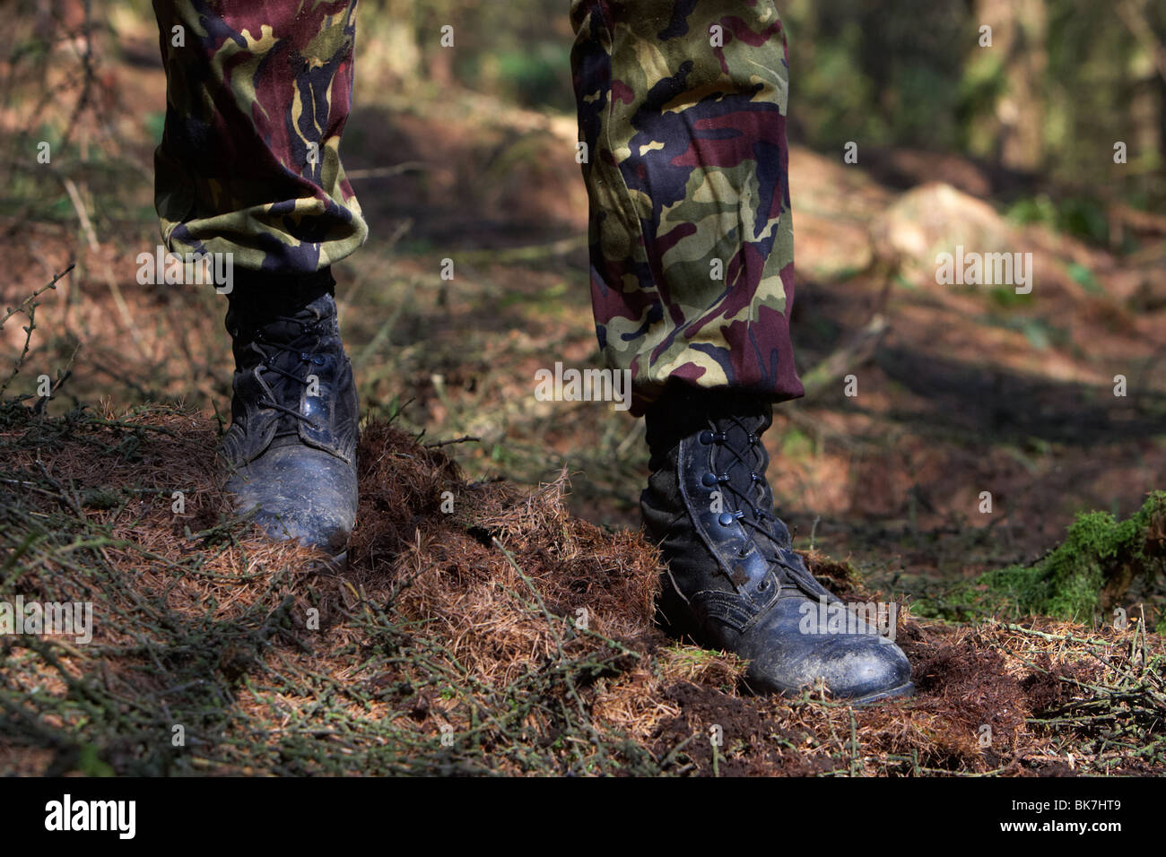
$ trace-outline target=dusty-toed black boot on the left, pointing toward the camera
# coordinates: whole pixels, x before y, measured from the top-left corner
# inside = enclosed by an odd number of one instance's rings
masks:
[[[234,351],[226,490],[273,539],[346,562],[357,517],[357,392],[328,269],[238,278],[226,329]]]

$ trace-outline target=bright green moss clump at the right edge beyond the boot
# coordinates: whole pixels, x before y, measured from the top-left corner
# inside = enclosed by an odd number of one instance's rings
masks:
[[[1081,513],[1065,541],[1045,557],[1032,566],[1009,566],[961,583],[932,605],[933,612],[1042,614],[1089,621],[1101,610],[1105,583],[1123,567],[1130,566],[1136,575],[1163,571],[1163,557],[1146,553],[1147,527],[1163,513],[1166,491],[1152,492],[1124,521],[1108,512]]]

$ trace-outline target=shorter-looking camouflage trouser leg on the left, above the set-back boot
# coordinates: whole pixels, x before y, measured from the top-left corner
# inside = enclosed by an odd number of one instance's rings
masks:
[[[155,206],[175,253],[316,272],[364,243],[340,167],[356,0],[154,0],[167,76]]]

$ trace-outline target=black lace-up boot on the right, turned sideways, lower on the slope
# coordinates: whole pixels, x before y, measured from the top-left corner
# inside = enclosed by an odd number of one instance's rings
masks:
[[[768,403],[693,387],[670,387],[648,410],[652,476],[640,508],[668,564],[665,623],[747,660],[758,693],[819,679],[855,702],[913,693],[899,647],[842,612],[774,515],[761,445],[772,422]]]

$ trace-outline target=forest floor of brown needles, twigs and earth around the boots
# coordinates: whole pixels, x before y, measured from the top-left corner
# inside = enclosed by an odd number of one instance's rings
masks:
[[[770,478],[817,574],[901,606],[919,694],[758,698],[731,656],[653,625],[641,421],[533,395],[538,368],[598,360],[573,119],[358,90],[344,157],[371,238],[335,273],[363,499],[351,567],[328,575],[218,489],[223,298],[135,282],[164,108],[142,44],[106,66],[68,156],[14,171],[0,216],[17,310],[0,337],[14,358],[28,339],[5,392],[24,403],[0,413],[0,600],[98,617],[87,645],[0,640],[0,772],[1166,772],[1160,576],[1061,619],[949,597],[1166,485],[1156,218],[1115,215],[1102,246],[1034,217],[1066,197],[1027,177],[792,147],[794,343],[824,380],[778,408]],[[936,286],[935,248],[957,244],[1031,252],[1032,293]],[[70,264],[34,325],[26,298]],[[848,396],[819,370],[873,326]]]

